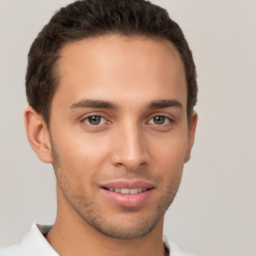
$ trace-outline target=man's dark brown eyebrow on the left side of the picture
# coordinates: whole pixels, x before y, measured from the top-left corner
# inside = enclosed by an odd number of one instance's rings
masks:
[[[74,108],[111,108],[117,109],[117,105],[111,101],[98,100],[98,99],[81,99],[69,106],[69,109]]]

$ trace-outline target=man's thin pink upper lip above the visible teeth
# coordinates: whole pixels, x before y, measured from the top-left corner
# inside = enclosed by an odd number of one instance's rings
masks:
[[[101,187],[106,187],[106,188],[137,188],[137,187],[142,187],[142,188],[151,188],[154,187],[152,183],[149,183],[144,180],[115,180],[115,181],[110,181],[106,183],[100,184]]]

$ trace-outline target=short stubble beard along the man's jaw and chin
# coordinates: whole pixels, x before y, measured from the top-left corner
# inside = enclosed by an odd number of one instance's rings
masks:
[[[165,211],[173,201],[179,186],[180,179],[178,184],[175,185],[176,189],[173,189],[173,184],[169,184],[164,189],[163,196],[159,199],[157,206],[152,210],[152,214],[147,218],[142,216],[142,218],[132,219],[132,221],[128,221],[128,223],[123,223],[123,221],[117,222],[114,219],[111,219],[111,217],[109,220],[102,208],[95,207],[96,198],[87,198],[81,184],[77,183],[72,170],[63,166],[53,147],[53,143],[51,148],[52,166],[58,185],[66,200],[86,223],[108,237],[132,239],[147,235],[163,217]],[[151,180],[155,179],[158,179],[158,183],[163,182],[163,178],[160,176],[151,178]],[[123,209],[123,211],[127,214],[133,213],[132,208]]]

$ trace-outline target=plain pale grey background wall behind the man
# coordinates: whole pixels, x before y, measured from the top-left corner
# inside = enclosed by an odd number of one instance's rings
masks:
[[[0,247],[53,222],[55,178],[23,127],[32,40],[68,0],[0,0]],[[191,160],[164,233],[204,256],[256,255],[256,1],[154,0],[182,27],[198,72]]]

